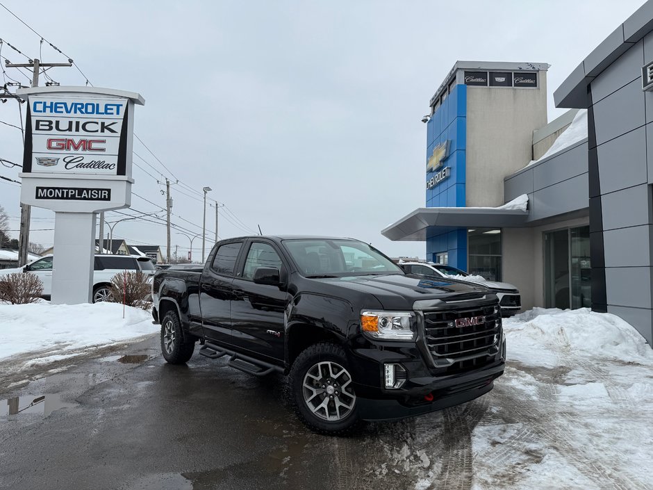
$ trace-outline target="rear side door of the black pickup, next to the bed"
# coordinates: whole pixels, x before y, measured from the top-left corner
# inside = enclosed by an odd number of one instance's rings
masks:
[[[242,242],[224,243],[209,257],[199,287],[199,307],[206,338],[231,344],[233,270]]]

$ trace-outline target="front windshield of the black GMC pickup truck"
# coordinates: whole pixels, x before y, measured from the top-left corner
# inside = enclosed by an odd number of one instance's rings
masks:
[[[404,274],[388,257],[357,240],[283,240],[283,245],[306,277]]]

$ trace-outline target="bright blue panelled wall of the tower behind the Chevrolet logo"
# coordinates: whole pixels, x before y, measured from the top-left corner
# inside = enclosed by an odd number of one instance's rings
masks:
[[[449,156],[443,168],[451,174],[431,189],[427,189],[429,208],[465,207],[465,147],[467,145],[467,86],[456,85],[449,97],[433,113],[427,124],[427,161],[433,148],[449,140]],[[433,177],[427,172],[425,182]],[[435,261],[436,254],[448,252],[449,264],[467,270],[467,229],[427,230],[427,260]]]

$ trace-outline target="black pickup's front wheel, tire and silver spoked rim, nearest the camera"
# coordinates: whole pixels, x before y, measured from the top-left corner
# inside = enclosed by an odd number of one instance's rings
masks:
[[[288,382],[297,416],[314,432],[342,435],[358,425],[354,380],[338,345],[318,343],[301,352]]]

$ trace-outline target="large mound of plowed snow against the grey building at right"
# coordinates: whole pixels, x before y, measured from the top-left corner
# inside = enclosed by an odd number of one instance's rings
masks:
[[[519,359],[520,353],[538,346],[549,353],[563,350],[588,357],[653,360],[653,350],[631,325],[618,316],[595,313],[588,308],[565,311],[536,308],[504,320],[504,329],[511,344],[509,356],[514,353],[520,361],[524,361]],[[542,357],[545,362],[542,365],[549,364],[546,358]]]

